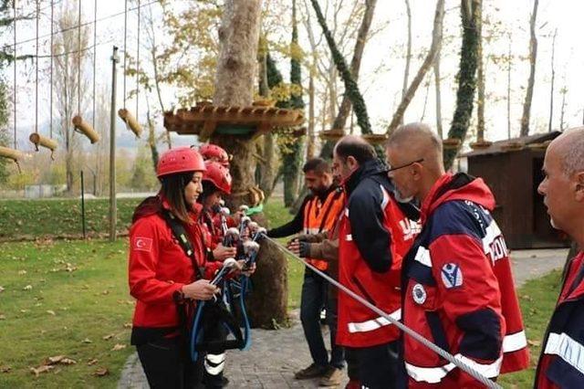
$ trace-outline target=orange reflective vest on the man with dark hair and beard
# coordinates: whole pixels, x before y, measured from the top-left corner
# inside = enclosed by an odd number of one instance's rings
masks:
[[[334,228],[345,204],[345,194],[339,187],[330,193],[324,202],[318,196],[308,200],[304,206],[304,233],[316,235]],[[318,258],[306,258],[307,262],[319,270],[326,270],[328,262]]]

